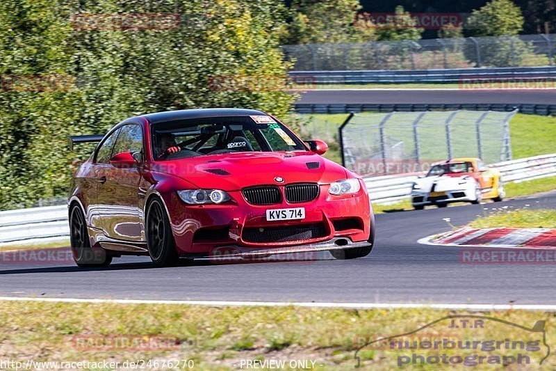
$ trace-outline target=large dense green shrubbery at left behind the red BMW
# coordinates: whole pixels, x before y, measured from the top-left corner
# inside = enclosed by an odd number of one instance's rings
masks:
[[[71,3],[0,3],[0,209],[65,194],[72,159],[91,150],[70,153],[68,134],[101,134],[124,118],[154,111],[238,106],[283,116],[291,107],[294,97],[284,91],[210,84],[214,76],[286,78],[278,45],[285,29],[281,1]],[[177,22],[98,23],[116,14],[173,15]],[[21,77],[30,82],[21,86]],[[33,86],[38,77],[73,82],[70,88]]]

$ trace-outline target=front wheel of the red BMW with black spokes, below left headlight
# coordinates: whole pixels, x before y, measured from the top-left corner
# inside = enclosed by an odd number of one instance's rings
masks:
[[[174,237],[170,229],[170,220],[160,200],[154,199],[147,208],[147,247],[156,267],[177,265],[179,256],[176,252]]]

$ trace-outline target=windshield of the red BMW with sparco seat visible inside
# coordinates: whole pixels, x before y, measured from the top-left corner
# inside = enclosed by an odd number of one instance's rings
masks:
[[[270,116],[181,120],[152,125],[155,160],[231,152],[306,150],[290,130]]]

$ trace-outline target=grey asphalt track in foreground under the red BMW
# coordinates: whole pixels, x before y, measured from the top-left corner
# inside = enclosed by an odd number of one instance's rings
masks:
[[[0,296],[351,303],[556,304],[556,265],[464,265],[457,247],[417,240],[463,225],[482,207],[554,208],[556,193],[503,203],[377,216],[377,244],[366,258],[153,268],[116,259],[106,269],[74,265],[0,266]]]

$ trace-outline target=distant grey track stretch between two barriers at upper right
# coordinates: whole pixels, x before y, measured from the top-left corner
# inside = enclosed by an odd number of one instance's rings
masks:
[[[551,90],[322,89],[300,92],[301,104],[555,104]]]

